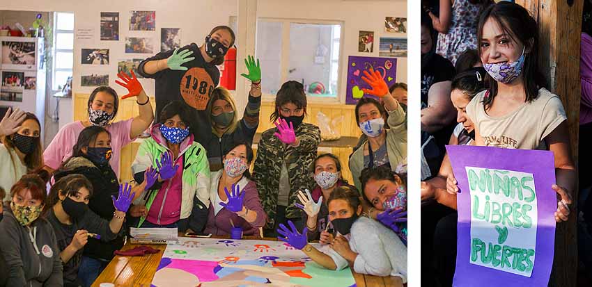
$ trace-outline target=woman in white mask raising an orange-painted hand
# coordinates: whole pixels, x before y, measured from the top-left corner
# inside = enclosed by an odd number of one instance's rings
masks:
[[[364,97],[356,104],[356,122],[368,140],[350,156],[350,169],[356,188],[361,189],[359,175],[364,167],[389,165],[396,170],[399,163],[407,158],[407,124],[405,111],[389,92],[382,74],[372,69],[364,71],[366,83],[371,90],[364,89],[369,95],[376,95],[384,101],[384,108],[375,99]],[[384,119],[389,113],[390,129],[384,128]]]

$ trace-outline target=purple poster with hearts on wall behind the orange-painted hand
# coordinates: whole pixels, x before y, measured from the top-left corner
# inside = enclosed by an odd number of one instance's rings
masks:
[[[387,82],[389,87],[396,82],[396,58],[350,56],[348,58],[348,90],[345,94],[345,104],[357,104],[358,100],[364,96],[364,92],[362,92],[361,89],[371,88],[370,85],[361,79],[361,77],[364,76],[364,70],[370,68],[373,68],[375,71],[380,71],[382,79]],[[371,95],[366,95],[366,97],[378,99]]]

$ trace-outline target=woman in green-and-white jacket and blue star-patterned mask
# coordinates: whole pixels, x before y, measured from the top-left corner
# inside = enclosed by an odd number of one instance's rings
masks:
[[[203,230],[210,205],[210,167],[205,149],[189,133],[187,114],[181,101],[166,105],[150,138],[138,148],[134,179],[146,182],[146,169],[157,172],[154,186],[134,202],[142,212],[138,227]]]

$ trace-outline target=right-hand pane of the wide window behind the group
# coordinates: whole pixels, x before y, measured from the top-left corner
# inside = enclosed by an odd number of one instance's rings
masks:
[[[339,58],[339,49],[332,48],[334,31],[340,29],[330,24],[290,24],[288,80],[303,82],[310,96],[336,97],[337,88],[332,87],[330,78],[338,61],[332,65],[331,59]]]

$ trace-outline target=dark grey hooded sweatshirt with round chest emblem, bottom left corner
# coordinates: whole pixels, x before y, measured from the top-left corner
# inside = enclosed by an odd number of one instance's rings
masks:
[[[0,222],[0,286],[63,286],[54,228],[44,218],[22,226],[9,206]],[[5,266],[1,266],[4,265]],[[4,281],[6,280],[6,281]]]

